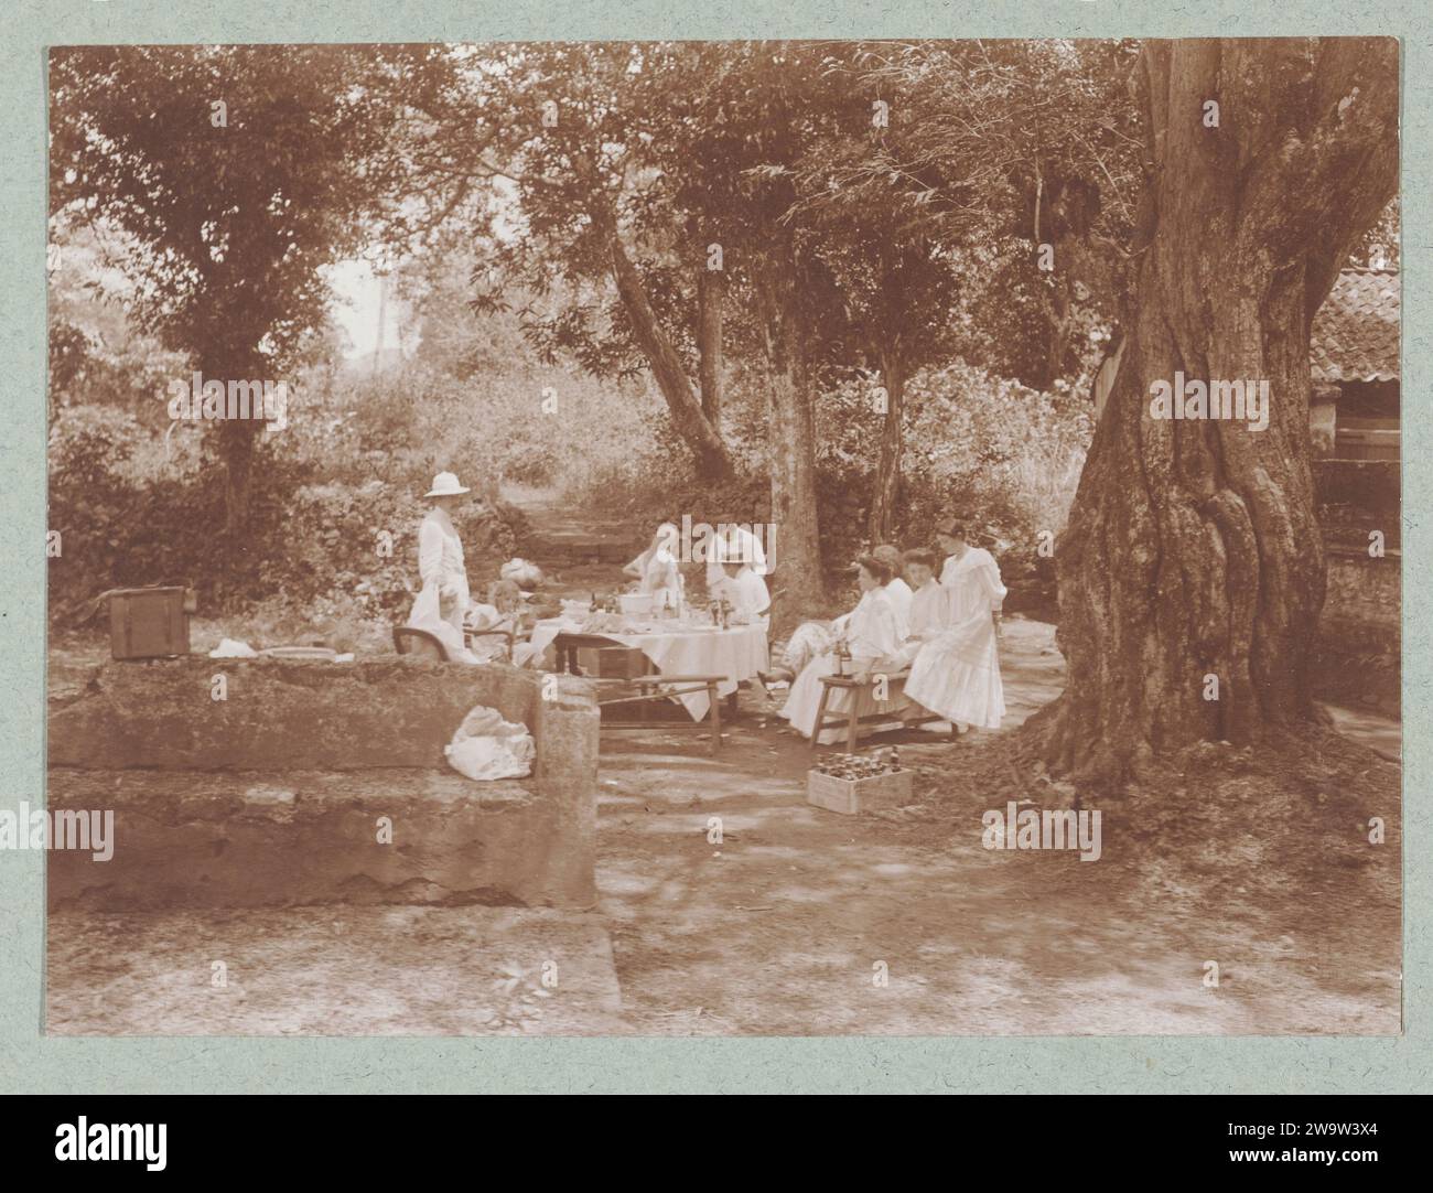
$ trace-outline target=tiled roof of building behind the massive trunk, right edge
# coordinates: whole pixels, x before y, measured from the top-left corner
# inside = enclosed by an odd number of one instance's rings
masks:
[[[1397,270],[1343,270],[1314,315],[1308,354],[1315,381],[1396,380]]]

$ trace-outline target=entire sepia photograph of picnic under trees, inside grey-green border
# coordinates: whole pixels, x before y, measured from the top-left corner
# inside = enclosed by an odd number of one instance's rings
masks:
[[[47,1037],[1403,1031],[1397,39],[46,72]]]

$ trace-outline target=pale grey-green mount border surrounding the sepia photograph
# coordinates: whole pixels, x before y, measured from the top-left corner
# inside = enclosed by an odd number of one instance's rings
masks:
[[[46,54],[56,44],[745,37],[1396,36],[1401,227],[1433,227],[1433,26],[1413,0],[9,0],[0,75],[0,806],[39,804],[46,717]],[[1419,16],[1419,13],[1423,13]],[[1410,152],[1412,151],[1412,152]],[[1403,371],[1429,376],[1430,254],[1404,237]],[[1403,908],[1400,1037],[44,1037],[43,855],[0,853],[0,1093],[1407,1093],[1433,1088],[1433,412],[1406,386],[1403,442]],[[1420,397],[1422,394],[1422,397]],[[1412,516],[1423,513],[1422,518]],[[1424,627],[1420,629],[1419,627]],[[755,964],[757,959],[754,959]],[[1191,971],[1191,981],[1198,975]]]

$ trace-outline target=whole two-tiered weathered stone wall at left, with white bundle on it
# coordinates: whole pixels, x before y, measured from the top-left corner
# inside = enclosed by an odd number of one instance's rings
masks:
[[[542,684],[418,660],[106,664],[52,705],[49,806],[113,810],[115,855],[53,850],[50,906],[590,906],[598,710],[580,680]],[[527,724],[530,779],[447,767],[476,704]]]

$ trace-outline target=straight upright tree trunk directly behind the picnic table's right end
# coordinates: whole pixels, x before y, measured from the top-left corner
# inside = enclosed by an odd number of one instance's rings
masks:
[[[825,598],[815,503],[815,420],[800,294],[790,270],[772,265],[755,281],[771,396],[772,614],[782,627]],[[780,599],[777,598],[780,594]]]

